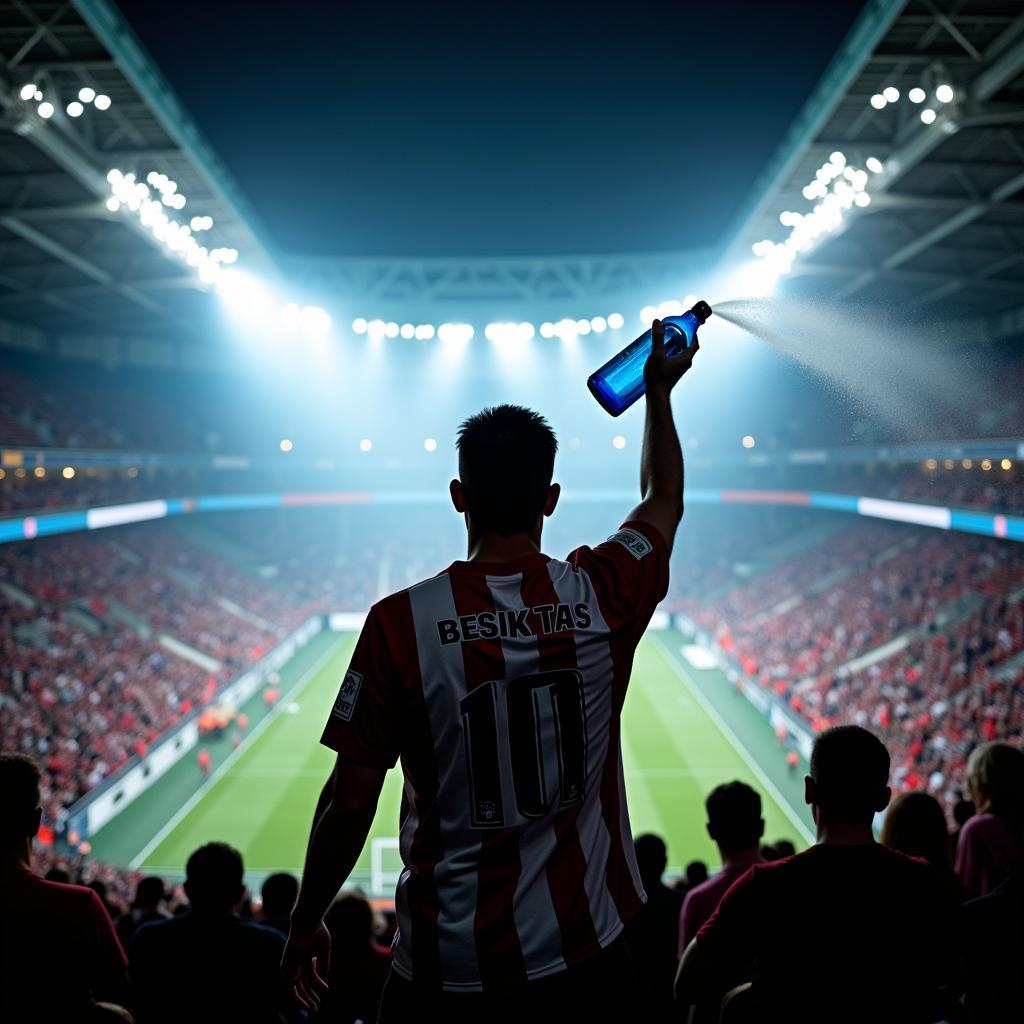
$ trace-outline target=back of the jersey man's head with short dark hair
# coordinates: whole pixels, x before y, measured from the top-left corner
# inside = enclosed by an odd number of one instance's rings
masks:
[[[522,406],[494,406],[464,420],[456,441],[466,509],[481,532],[532,529],[555,472],[558,439]]]

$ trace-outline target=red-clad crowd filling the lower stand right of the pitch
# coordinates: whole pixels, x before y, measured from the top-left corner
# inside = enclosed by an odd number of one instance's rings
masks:
[[[935,794],[951,816],[970,751],[1024,729],[1018,547],[864,524],[679,603],[815,731],[876,730],[897,788]]]

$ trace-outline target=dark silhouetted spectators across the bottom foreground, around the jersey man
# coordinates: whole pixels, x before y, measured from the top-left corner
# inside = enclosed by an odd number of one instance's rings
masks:
[[[637,837],[647,902],[627,926],[630,957],[614,979],[629,1019],[1017,1019],[1024,753],[1000,742],[973,751],[961,779],[971,803],[958,836],[934,797],[891,799],[889,780],[877,736],[831,728],[815,742],[806,781],[816,826],[810,849],[769,853],[761,797],[740,781],[715,786],[707,799],[722,865],[714,873],[700,878],[694,864],[692,880],[666,885],[664,842]],[[357,891],[339,894],[325,916],[326,991],[311,1012],[302,1010],[279,967],[294,876],[269,876],[256,897],[242,855],[224,843],[191,854],[180,888],[88,858],[60,860],[38,840],[33,847],[40,781],[31,760],[0,756],[4,1020],[52,1013],[137,1024],[377,1019],[393,914],[386,920]],[[55,944],[66,970],[59,986],[45,986]],[[516,997],[521,1002],[522,993]]]

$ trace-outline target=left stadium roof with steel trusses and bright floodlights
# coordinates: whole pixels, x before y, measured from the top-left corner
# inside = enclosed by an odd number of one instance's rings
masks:
[[[109,179],[115,169],[145,184],[170,220],[188,225],[177,233],[176,251],[169,247],[174,232],[165,229],[161,241],[129,193],[122,191],[120,208],[109,208],[118,206]],[[188,238],[208,250],[206,257],[196,251],[191,265]],[[196,314],[209,297],[199,269],[214,259],[213,249],[220,252],[211,272],[231,261],[232,250],[249,267],[270,266],[231,175],[114,5],[0,4],[6,334],[20,326],[58,337],[92,324],[97,334],[180,337],[182,328],[202,323]]]

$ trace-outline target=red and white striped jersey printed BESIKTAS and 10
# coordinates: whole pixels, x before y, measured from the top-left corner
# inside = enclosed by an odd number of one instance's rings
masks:
[[[565,561],[455,562],[371,609],[323,742],[401,758],[398,974],[515,986],[593,955],[644,902],[620,713],[668,579],[658,531],[628,522]]]

